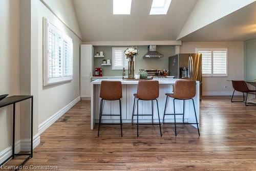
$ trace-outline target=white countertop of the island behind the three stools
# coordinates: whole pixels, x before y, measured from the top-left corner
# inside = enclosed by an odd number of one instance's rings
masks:
[[[123,80],[122,78],[112,78],[112,79],[96,79],[91,82],[91,84],[100,84],[102,80],[107,80],[107,81],[121,81],[122,84],[138,84],[138,80]],[[175,84],[175,82],[178,79],[175,78],[153,78],[153,80],[158,80],[159,84]],[[199,83],[199,81],[197,81]]]

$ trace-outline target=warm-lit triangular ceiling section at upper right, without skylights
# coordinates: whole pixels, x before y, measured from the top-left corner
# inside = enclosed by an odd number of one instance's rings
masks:
[[[183,41],[245,41],[256,38],[256,2],[218,19]]]

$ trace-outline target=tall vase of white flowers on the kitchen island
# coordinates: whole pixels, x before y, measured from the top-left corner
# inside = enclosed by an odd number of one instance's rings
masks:
[[[126,56],[128,61],[128,78],[134,79],[134,57],[138,55],[138,49],[136,47],[127,48],[124,51],[124,55]]]

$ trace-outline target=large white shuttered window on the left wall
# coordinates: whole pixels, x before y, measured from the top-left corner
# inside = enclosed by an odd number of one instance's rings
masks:
[[[44,86],[72,78],[72,39],[44,18]]]

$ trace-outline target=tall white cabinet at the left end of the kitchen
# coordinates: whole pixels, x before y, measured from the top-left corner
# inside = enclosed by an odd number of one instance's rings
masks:
[[[94,48],[92,45],[80,45],[80,96],[91,98],[91,77],[93,75]]]

